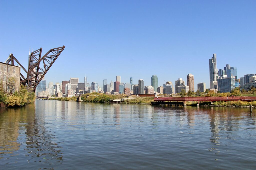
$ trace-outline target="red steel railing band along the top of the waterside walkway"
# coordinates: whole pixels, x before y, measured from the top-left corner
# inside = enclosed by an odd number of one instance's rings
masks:
[[[256,97],[155,97],[154,101],[256,101]]]

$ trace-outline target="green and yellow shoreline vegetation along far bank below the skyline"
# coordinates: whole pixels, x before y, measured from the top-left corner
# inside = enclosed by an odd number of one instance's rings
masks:
[[[247,94],[243,95],[238,91],[232,91],[233,93],[212,93],[210,94],[203,94],[200,95],[201,97],[205,96],[246,96]],[[250,95],[250,94],[249,94]],[[86,97],[87,96],[87,97]],[[180,95],[181,96],[181,95]],[[180,97],[177,96],[177,97]],[[187,95],[186,95],[187,96]],[[250,96],[256,96],[256,95],[250,95]],[[167,97],[167,96],[166,96]],[[190,97],[190,96],[189,96]],[[193,95],[193,97],[197,97],[197,95]],[[99,102],[99,103],[109,103],[109,101],[112,99],[120,99],[123,101],[124,104],[151,104],[152,101],[154,101],[154,97],[138,97],[135,95],[131,95],[128,98],[123,97],[122,95],[106,95],[102,93],[91,93],[91,94],[85,94],[85,96],[81,96],[81,99],[84,102]],[[77,97],[55,97],[55,98],[49,98],[49,100],[62,100],[62,101],[76,101]],[[247,101],[217,101],[213,102],[213,104],[210,104],[211,102],[201,102],[199,103],[199,106],[216,106],[216,107],[249,107],[250,104],[252,107],[256,107],[256,101],[253,102],[247,102]],[[186,102],[187,106],[196,106],[197,102]]]

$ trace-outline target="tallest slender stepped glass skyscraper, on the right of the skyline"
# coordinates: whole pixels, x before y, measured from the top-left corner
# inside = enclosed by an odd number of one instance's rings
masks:
[[[209,59],[209,72],[210,72],[210,89],[217,89],[218,69],[216,54]]]

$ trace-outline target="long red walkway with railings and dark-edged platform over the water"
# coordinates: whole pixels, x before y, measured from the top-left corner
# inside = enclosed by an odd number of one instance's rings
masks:
[[[186,101],[256,101],[256,97],[236,96],[236,97],[155,97],[152,104],[175,104],[186,105]]]

